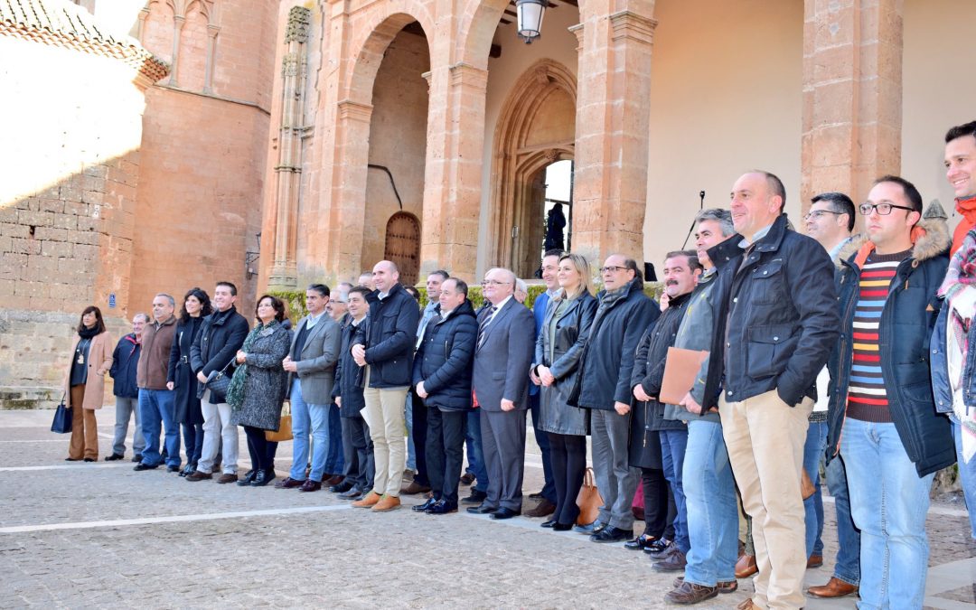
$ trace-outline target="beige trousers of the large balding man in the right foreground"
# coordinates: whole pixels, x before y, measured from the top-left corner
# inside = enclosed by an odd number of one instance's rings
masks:
[[[800,476],[807,418],[813,400],[791,407],[776,390],[741,402],[719,398],[729,462],[752,517],[759,573],[752,603],[759,608],[802,608],[806,539]]]

